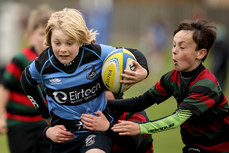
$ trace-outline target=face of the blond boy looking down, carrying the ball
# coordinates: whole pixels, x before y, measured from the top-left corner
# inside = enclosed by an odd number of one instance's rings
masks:
[[[60,29],[53,29],[51,35],[51,46],[56,58],[62,64],[68,64],[74,60],[79,53],[80,44]]]

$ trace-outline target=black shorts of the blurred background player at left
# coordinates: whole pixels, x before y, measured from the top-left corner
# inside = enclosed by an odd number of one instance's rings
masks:
[[[8,128],[11,153],[49,153],[50,145],[43,136],[45,122],[16,125]]]

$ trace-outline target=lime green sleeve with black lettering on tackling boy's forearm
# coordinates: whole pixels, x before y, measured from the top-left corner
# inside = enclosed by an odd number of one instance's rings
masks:
[[[152,134],[169,129],[174,129],[183,124],[192,115],[190,110],[178,109],[174,114],[156,120],[140,124],[141,134]]]

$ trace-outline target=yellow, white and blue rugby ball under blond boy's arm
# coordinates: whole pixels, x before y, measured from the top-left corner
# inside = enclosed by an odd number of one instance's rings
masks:
[[[124,70],[135,71],[133,60],[136,61],[134,55],[124,48],[112,51],[104,60],[102,67],[102,80],[106,88],[114,93],[123,93],[126,84],[120,83],[124,78],[121,74]]]

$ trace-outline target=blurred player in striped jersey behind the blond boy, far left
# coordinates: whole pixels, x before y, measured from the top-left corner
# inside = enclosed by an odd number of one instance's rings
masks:
[[[11,153],[48,153],[49,144],[43,138],[47,126],[39,112],[24,94],[20,77],[46,47],[45,25],[53,11],[46,5],[32,10],[27,24],[31,46],[22,49],[5,67],[0,85],[0,134],[7,133]]]

